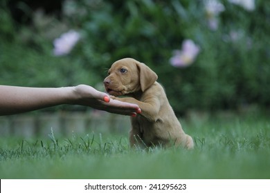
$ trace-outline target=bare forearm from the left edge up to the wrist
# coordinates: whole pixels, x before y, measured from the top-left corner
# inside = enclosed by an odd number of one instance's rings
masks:
[[[0,115],[71,103],[72,88],[27,88],[0,85]]]

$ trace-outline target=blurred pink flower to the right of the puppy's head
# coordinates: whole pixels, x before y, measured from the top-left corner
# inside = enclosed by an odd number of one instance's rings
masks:
[[[182,50],[174,50],[174,56],[170,59],[170,64],[174,67],[187,67],[191,65],[199,54],[199,46],[187,39],[183,41]]]

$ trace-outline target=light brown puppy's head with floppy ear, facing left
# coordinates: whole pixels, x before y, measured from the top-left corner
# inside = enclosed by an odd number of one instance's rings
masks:
[[[157,79],[147,65],[134,59],[120,59],[111,65],[108,77],[104,79],[106,91],[114,96],[125,95],[139,90],[145,91]]]

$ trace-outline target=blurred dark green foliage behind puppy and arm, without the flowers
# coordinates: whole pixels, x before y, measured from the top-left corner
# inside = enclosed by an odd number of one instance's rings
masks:
[[[220,1],[225,10],[217,30],[208,28],[204,2],[67,0],[60,18],[33,10],[26,24],[16,23],[2,1],[0,82],[50,87],[87,83],[102,90],[111,63],[132,57],[159,75],[177,113],[269,106],[270,1],[255,1],[253,11]],[[55,57],[53,39],[70,29],[82,39],[69,55]],[[201,52],[189,67],[174,68],[170,57],[184,39],[192,39]]]

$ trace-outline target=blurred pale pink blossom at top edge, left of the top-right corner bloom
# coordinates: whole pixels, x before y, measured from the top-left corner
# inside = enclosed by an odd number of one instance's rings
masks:
[[[219,3],[217,0],[207,0],[205,1],[205,10],[206,16],[208,19],[208,26],[211,30],[217,30],[218,28],[218,19],[217,16],[220,12],[225,10],[225,7],[222,3]]]

